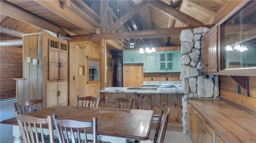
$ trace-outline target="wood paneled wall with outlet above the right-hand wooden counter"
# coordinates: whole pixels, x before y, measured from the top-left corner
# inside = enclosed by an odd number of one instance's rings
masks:
[[[229,76],[220,76],[220,96],[256,109],[256,77],[249,76],[249,96],[244,95],[242,86],[238,93],[238,85]]]

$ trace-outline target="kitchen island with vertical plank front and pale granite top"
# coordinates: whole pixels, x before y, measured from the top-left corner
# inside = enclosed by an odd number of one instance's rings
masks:
[[[101,92],[102,102],[105,106],[105,97],[133,97],[132,109],[153,110],[155,115],[160,113],[162,103],[170,108],[171,114],[168,118],[168,131],[182,131],[182,90],[180,84],[172,84],[172,88],[159,88],[153,86],[144,87],[108,87]],[[154,118],[153,128],[157,118]]]

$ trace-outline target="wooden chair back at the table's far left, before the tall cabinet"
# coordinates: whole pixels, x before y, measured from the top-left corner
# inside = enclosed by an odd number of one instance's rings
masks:
[[[30,112],[42,110],[45,108],[44,106],[44,98],[42,99],[33,99],[26,100],[20,103],[14,103],[15,110],[19,112],[19,114],[28,114]]]

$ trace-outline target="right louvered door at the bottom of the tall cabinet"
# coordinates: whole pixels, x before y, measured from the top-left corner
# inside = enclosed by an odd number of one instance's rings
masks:
[[[68,82],[58,82],[58,105],[68,105]]]

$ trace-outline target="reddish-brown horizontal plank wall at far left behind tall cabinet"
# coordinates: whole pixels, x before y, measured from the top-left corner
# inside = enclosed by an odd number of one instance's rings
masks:
[[[22,48],[0,47],[0,100],[16,97],[16,80],[22,78]]]

